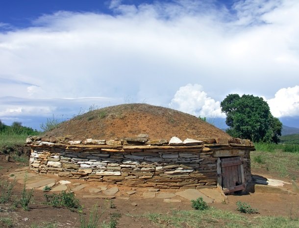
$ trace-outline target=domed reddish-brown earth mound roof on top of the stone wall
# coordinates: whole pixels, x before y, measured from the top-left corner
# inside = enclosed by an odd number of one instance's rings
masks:
[[[196,116],[149,104],[121,104],[89,111],[46,132],[52,136],[71,135],[74,140],[123,139],[147,134],[149,139],[231,138],[223,130]]]

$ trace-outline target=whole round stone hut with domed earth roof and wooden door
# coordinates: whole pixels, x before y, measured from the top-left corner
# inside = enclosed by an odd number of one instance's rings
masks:
[[[217,186],[224,193],[251,180],[250,140],[148,104],[93,110],[26,142],[30,169],[46,175],[154,188]]]

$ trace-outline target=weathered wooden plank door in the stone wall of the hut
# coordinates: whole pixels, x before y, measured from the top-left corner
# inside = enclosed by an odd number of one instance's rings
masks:
[[[244,170],[240,156],[222,157],[222,187],[225,194],[245,188]]]

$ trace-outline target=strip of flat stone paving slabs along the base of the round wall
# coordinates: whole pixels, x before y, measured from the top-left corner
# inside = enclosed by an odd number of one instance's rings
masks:
[[[16,180],[21,184],[26,182],[26,188],[34,188],[36,190],[43,190],[46,186],[50,187],[50,192],[73,191],[75,193],[82,193],[83,199],[123,199],[130,198],[157,198],[163,200],[164,203],[180,203],[182,201],[196,200],[202,197],[207,203],[222,202],[225,196],[219,189],[205,188],[201,190],[186,189],[186,190],[172,190],[169,192],[163,189],[163,192],[157,188],[131,188],[122,190],[115,184],[103,185],[95,184],[94,182],[80,181],[74,183],[72,179],[67,179],[55,176],[43,176],[41,174],[30,173],[27,167],[16,169],[8,175],[5,175],[10,180]]]

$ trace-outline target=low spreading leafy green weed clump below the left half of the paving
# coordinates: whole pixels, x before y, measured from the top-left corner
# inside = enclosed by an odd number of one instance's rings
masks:
[[[80,208],[79,200],[75,198],[73,192],[62,191],[59,194],[44,195],[46,201],[52,207],[68,207],[68,208]]]

